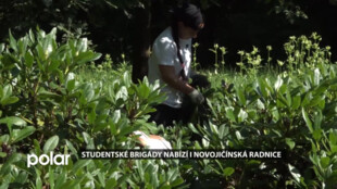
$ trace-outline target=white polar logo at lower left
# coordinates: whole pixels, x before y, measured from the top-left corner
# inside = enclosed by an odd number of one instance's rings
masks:
[[[67,160],[71,155],[70,154],[58,154],[54,155],[53,152],[50,152],[49,156],[47,154],[41,154],[37,156],[36,154],[28,154],[27,155],[27,167],[32,165],[36,165],[37,163],[41,165],[67,165]]]

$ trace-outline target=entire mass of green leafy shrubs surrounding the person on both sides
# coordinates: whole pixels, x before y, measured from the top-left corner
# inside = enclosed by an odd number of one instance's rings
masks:
[[[129,66],[101,67],[87,39],[58,43],[57,29],[0,45],[0,188],[334,188],[337,182],[337,67],[320,37],[291,37],[285,67],[261,71],[254,49],[241,73],[207,73],[207,119],[149,123],[164,96]],[[309,46],[310,45],[310,46]],[[271,49],[271,48],[270,48]],[[214,46],[214,51],[217,47]],[[217,53],[215,54],[217,55]],[[271,58],[267,59],[270,66]],[[196,60],[195,60],[196,62]],[[217,64],[217,61],[216,61]],[[269,67],[270,68],[270,67]],[[269,70],[270,71],[270,70]],[[245,74],[249,74],[248,76]],[[273,75],[278,73],[277,75]],[[226,81],[226,83],[225,83]],[[175,149],[283,150],[282,160],[80,160],[80,149],[138,149],[134,130]],[[200,140],[191,140],[196,134]],[[27,167],[27,154],[71,154],[67,165]]]

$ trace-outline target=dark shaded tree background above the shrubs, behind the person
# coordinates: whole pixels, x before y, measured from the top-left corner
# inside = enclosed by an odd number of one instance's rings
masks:
[[[146,66],[150,45],[170,23],[168,11],[183,0],[1,0],[0,39],[8,29],[15,36],[28,28],[49,30],[58,26],[65,38],[87,36],[97,51],[112,54],[114,62],[125,53],[132,64]],[[191,0],[205,17],[205,28],[197,41],[198,60],[203,66],[214,63],[210,48],[227,48],[226,64],[236,65],[238,50],[258,47],[262,54],[272,46],[272,56],[282,59],[283,43],[289,36],[317,32],[323,46],[337,54],[336,0]]]

